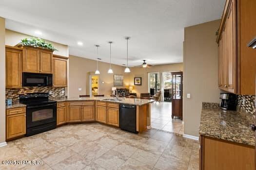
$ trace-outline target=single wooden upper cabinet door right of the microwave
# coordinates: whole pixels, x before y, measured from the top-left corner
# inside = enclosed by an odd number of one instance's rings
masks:
[[[53,85],[55,87],[67,86],[67,60],[53,58]]]

